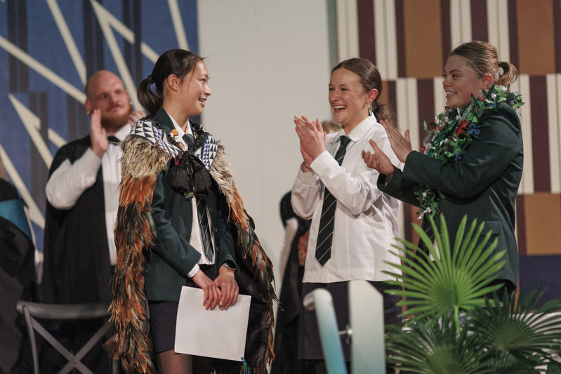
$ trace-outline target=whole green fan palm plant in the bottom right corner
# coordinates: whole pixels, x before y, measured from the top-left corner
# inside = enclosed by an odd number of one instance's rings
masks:
[[[400,264],[391,264],[402,274],[388,273],[402,290],[412,318],[398,326],[386,326],[388,363],[400,373],[539,373],[536,366],[553,361],[561,354],[561,300],[536,309],[542,293],[503,300],[490,293],[501,285],[496,272],[504,262],[503,251],[496,253],[491,233],[482,236],[484,225],[464,217],[453,246],[446,222],[441,216],[441,232],[434,220],[435,239],[415,225],[425,253],[407,241],[400,241],[402,253],[395,253]],[[396,247],[399,248],[399,247]],[[559,371],[550,363],[548,374]]]

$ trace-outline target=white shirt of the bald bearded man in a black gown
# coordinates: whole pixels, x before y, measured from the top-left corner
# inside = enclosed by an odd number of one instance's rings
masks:
[[[115,137],[124,140],[131,132],[128,123],[119,128]],[[70,209],[86,189],[93,186],[102,166],[103,197],[105,200],[105,229],[107,232],[107,246],[111,265],[117,264],[117,247],[115,246],[114,228],[119,208],[119,182],[121,182],[121,147],[109,142],[107,150],[101,158],[93,152],[91,147],[82,156],[70,163],[69,159],[62,161],[60,166],[48,178],[46,196],[48,202],[57,209]]]

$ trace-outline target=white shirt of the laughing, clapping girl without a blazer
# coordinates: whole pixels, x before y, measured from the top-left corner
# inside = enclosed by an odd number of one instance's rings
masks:
[[[367,117],[348,134],[351,139],[341,166],[334,159],[345,132],[326,135],[326,152],[312,162],[309,173],[298,172],[292,186],[292,206],[296,214],[312,219],[305,283],[333,283],[364,279],[385,281],[392,276],[383,271],[400,270],[385,264],[400,263],[392,247],[398,234],[397,215],[400,201],[376,187],[378,172],[362,159],[362,150],[373,152],[369,139],[388,155],[395,166],[402,163],[392,152],[388,135],[374,115]],[[322,215],[324,186],[337,199],[331,258],[322,267],[315,258],[319,220]],[[393,278],[395,279],[395,278]]]

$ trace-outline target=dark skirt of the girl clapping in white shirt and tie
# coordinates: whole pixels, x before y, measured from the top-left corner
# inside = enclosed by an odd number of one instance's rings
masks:
[[[388,295],[384,290],[397,288],[389,286],[383,282],[369,282],[383,295],[384,319],[386,324],[400,323],[401,319],[397,316],[401,314],[402,308],[396,304],[402,300],[401,296]],[[298,337],[298,359],[323,360],[322,342],[319,338],[317,319],[315,310],[308,310],[304,307],[302,300],[305,295],[316,288],[325,288],[331,293],[334,300],[334,309],[337,319],[338,330],[346,330],[349,324],[349,291],[348,281],[335,283],[304,283],[302,288],[302,299],[300,302],[300,334]],[[341,339],[343,355],[346,361],[350,361],[350,345],[346,338]]]

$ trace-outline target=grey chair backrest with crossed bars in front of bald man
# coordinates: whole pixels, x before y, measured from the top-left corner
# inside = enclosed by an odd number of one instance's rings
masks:
[[[92,304],[43,304],[41,302],[20,301],[16,309],[25,317],[27,325],[27,333],[31,342],[33,354],[34,373],[39,374],[39,355],[37,353],[37,342],[35,333],[37,331],[49,344],[67,359],[68,363],[59,373],[69,373],[72,368],[77,368],[81,373],[92,373],[86,368],[81,359],[101,340],[107,331],[112,328],[113,323],[109,321],[110,312],[109,305],[103,303]],[[44,326],[37,321],[41,320],[79,320],[79,319],[99,319],[107,317],[107,321],[93,334],[79,352],[72,354],[58,340],[49,333]],[[113,371],[115,371],[114,366]]]

